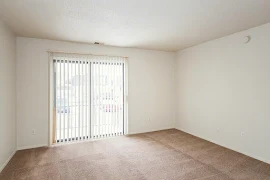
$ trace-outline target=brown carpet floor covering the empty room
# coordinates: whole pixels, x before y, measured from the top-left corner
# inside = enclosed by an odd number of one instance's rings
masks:
[[[175,129],[16,152],[0,179],[270,179],[270,165]]]

